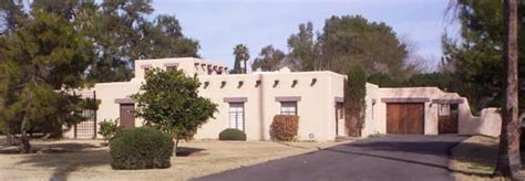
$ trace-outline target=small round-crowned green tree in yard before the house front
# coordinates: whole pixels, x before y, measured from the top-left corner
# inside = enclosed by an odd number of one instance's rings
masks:
[[[217,111],[216,104],[197,95],[198,79],[182,71],[154,68],[145,81],[140,93],[133,95],[136,116],[144,118],[146,126],[171,135],[176,140],[175,151],[179,139],[191,139]]]

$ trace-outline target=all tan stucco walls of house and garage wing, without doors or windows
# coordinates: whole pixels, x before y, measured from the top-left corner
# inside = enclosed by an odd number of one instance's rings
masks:
[[[337,117],[336,103],[343,100],[344,75],[328,71],[256,72],[251,74],[228,74],[226,66],[193,57],[142,60],[135,62],[135,77],[130,82],[100,83],[95,91],[101,100],[96,119],[120,117],[117,99],[138,92],[144,82],[145,70],[174,67],[183,70],[187,76],[197,76],[202,83],[198,94],[218,105],[215,118],[203,125],[196,139],[217,139],[218,134],[229,128],[230,103],[244,103],[244,130],[248,140],[269,140],[269,128],[274,116],[280,114],[280,102],[297,102],[299,116],[299,140],[333,140],[346,136],[344,118]],[[461,99],[459,134],[498,136],[501,118],[495,108],[484,109],[481,117],[472,116],[466,98],[455,93],[445,93],[435,87],[380,88],[367,84],[366,124],[362,136],[385,134],[387,106],[384,98],[426,98],[424,103],[424,134],[437,135],[437,108],[433,99]],[[136,118],[135,126],[142,120]],[[338,130],[338,134],[336,134]],[[72,131],[65,137],[73,137]],[[97,136],[100,138],[100,136]]]

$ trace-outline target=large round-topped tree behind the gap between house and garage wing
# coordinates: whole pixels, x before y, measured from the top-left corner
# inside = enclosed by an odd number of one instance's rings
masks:
[[[321,68],[346,73],[359,63],[366,72],[403,76],[406,45],[385,23],[369,22],[361,15],[331,17],[319,36]]]

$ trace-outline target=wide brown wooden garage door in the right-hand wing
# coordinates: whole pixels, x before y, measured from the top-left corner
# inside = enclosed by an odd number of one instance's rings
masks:
[[[423,134],[423,103],[388,103],[387,134]]]

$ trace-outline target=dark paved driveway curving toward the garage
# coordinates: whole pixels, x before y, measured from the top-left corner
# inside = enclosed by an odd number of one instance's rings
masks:
[[[370,138],[196,180],[453,180],[447,170],[449,149],[465,138]]]

